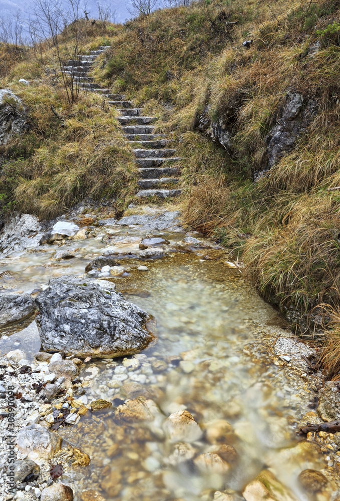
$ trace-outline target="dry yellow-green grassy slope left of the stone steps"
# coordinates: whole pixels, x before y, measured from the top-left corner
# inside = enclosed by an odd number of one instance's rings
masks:
[[[89,53],[110,43],[115,27],[86,27],[80,48]],[[72,54],[70,34],[64,33],[61,50],[65,61]],[[122,139],[116,112],[103,106],[95,93],[80,91],[70,104],[59,77],[56,51],[47,42],[41,51],[2,46],[1,84],[12,89],[25,104],[31,130],[0,148],[7,160],[0,177],[2,210],[34,212],[44,218],[90,196],[100,199],[135,188],[135,164]],[[101,64],[102,61],[99,61]],[[20,78],[30,81],[19,84]],[[58,118],[51,110],[55,107]]]

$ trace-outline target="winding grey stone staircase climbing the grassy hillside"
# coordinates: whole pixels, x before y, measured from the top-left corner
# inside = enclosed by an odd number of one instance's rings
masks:
[[[165,134],[155,134],[155,117],[143,115],[142,108],[135,108],[131,101],[121,94],[112,94],[110,89],[103,89],[89,77],[93,61],[105,52],[108,47],[99,47],[92,51],[90,56],[79,56],[78,60],[70,60],[63,71],[79,81],[82,89],[103,94],[110,106],[114,106],[120,117],[118,118],[124,138],[131,142],[140,179],[141,188],[136,196],[168,198],[178,196],[182,190],[175,187],[179,179],[179,167],[176,165],[181,159],[176,156],[176,150],[167,148],[171,140]]]

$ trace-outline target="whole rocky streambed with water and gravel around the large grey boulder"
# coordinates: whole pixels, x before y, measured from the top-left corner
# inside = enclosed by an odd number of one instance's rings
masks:
[[[72,234],[56,232],[70,225]],[[1,361],[0,383],[18,395],[17,437],[33,424],[64,440],[49,457],[17,443],[18,459],[35,458],[40,474],[5,498],[31,501],[40,495],[35,489],[56,482],[83,501],[336,497],[336,437],[295,434],[320,421],[322,381],[305,360],[313,350],[291,335],[223,247],[185,231],[177,207],[130,207],[119,221],[85,205],[49,223],[25,215],[5,227],[2,246],[4,292],[36,298],[50,279],[67,275],[103,281],[154,318],[156,337],[127,357],[53,355],[76,368],[65,377],[50,370],[49,355],[35,358],[34,318],[2,329],[1,355],[23,352]],[[1,426],[4,412],[6,405]],[[50,468],[59,463],[62,475],[53,480]]]

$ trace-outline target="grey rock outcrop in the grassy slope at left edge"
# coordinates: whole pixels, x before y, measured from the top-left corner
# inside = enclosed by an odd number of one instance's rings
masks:
[[[0,145],[30,129],[22,100],[10,89],[0,90]]]

